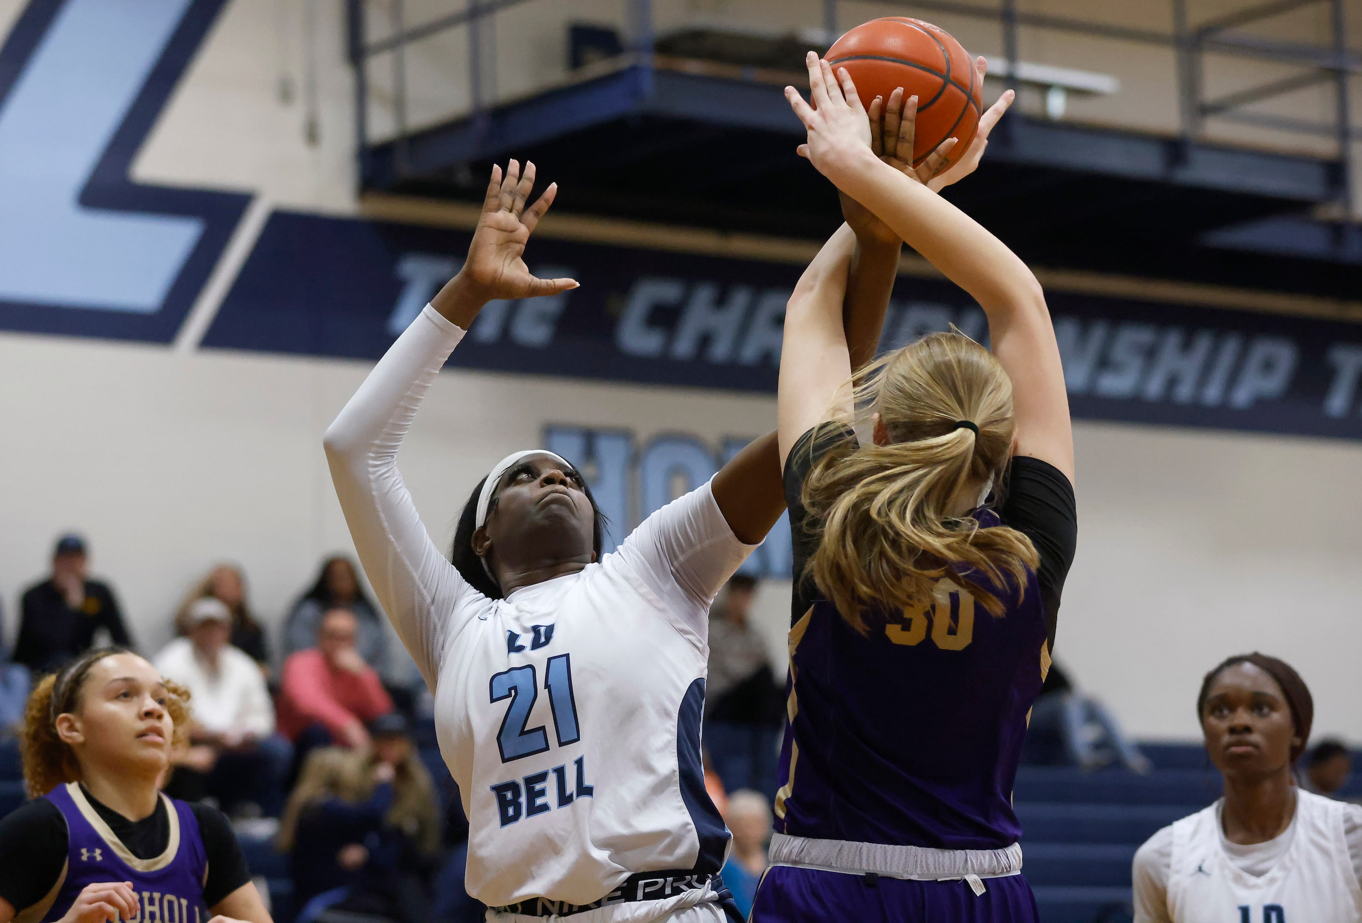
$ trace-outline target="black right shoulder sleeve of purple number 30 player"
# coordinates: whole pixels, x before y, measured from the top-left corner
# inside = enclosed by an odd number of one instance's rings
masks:
[[[1079,542],[1079,512],[1073,485],[1049,462],[1017,456],[1012,459],[1008,489],[998,516],[1005,525],[1023,532],[1041,555],[1036,583],[1049,628],[1050,652],[1060,618],[1060,595],[1073,564]]]

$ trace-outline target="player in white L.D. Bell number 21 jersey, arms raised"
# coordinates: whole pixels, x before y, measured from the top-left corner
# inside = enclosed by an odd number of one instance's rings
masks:
[[[395,456],[449,353],[493,298],[573,287],[520,259],[554,187],[492,184],[466,260],[327,430],[336,493],[383,609],[434,690],[470,818],[469,893],[489,919],[734,919],[729,832],[704,791],[700,717],[714,595],[785,508],[774,434],[601,557],[590,490],[542,451],[493,467],[454,562]],[[893,248],[873,297],[883,313]]]

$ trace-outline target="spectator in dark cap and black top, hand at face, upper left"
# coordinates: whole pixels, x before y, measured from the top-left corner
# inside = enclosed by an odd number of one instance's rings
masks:
[[[23,594],[15,663],[34,675],[52,673],[94,645],[95,632],[132,647],[118,600],[108,584],[91,580],[84,539],[63,535],[52,553],[52,576]]]

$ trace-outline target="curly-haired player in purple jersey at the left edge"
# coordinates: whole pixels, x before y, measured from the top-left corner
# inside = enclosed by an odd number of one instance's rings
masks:
[[[20,741],[34,799],[0,820],[0,923],[271,923],[226,818],[157,787],[187,697],[117,648],[38,683]]]

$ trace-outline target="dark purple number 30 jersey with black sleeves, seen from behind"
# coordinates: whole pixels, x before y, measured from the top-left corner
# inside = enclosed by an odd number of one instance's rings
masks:
[[[799,490],[813,460],[842,438],[820,437],[810,452],[806,436],[787,462],[797,574],[813,551]],[[1049,511],[1036,519],[1050,534],[1022,521],[1038,508]],[[1002,513],[1032,536],[1042,574],[1027,572],[1023,588],[974,577],[1002,600],[1001,618],[963,581],[943,580],[930,607],[870,614],[866,637],[812,580],[797,584],[776,830],[945,849],[998,849],[1020,839],[1012,783],[1050,663],[1058,587],[1073,554],[1072,511],[1062,474],[1016,460]],[[975,517],[983,528],[1004,521],[989,509]]]

